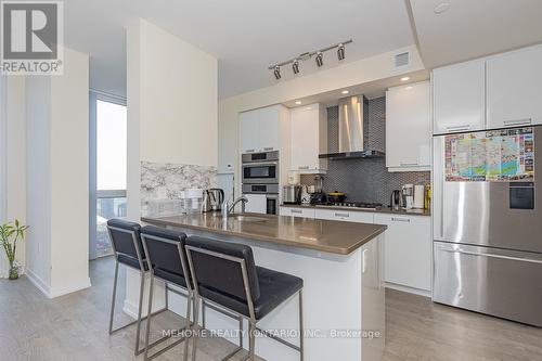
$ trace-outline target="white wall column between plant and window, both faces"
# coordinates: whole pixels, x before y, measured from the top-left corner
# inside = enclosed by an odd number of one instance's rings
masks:
[[[47,296],[90,286],[89,57],[26,79],[27,274]]]

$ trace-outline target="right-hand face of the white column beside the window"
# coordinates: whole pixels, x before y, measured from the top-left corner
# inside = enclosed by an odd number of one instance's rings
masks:
[[[89,56],[66,49],[51,78],[52,286],[64,294],[89,281]]]

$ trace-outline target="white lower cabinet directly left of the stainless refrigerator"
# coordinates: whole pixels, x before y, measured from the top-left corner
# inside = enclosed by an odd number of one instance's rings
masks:
[[[375,214],[374,222],[388,227],[384,244],[386,282],[430,291],[430,217]]]

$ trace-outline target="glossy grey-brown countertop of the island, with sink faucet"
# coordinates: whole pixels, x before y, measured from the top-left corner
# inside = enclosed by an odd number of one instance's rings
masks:
[[[194,229],[298,248],[348,255],[384,231],[386,225],[260,214],[235,214],[224,222],[220,214],[142,217],[145,223]]]

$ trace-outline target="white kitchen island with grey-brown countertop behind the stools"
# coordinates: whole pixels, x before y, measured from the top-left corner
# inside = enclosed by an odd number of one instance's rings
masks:
[[[249,245],[258,266],[304,279],[305,360],[382,358],[385,225],[256,214],[230,215],[225,221],[219,214],[145,217],[142,221]],[[297,345],[297,302],[289,301],[259,325],[283,336],[295,331],[285,338]],[[235,330],[236,322],[206,309],[206,327],[223,333]],[[224,336],[235,341],[234,336]],[[299,359],[296,351],[264,337],[258,337],[256,353],[269,361]]]

